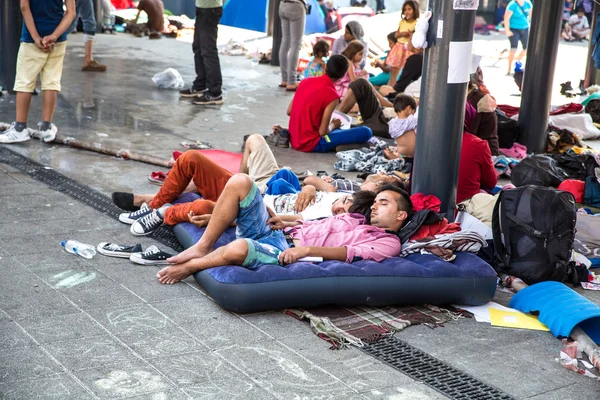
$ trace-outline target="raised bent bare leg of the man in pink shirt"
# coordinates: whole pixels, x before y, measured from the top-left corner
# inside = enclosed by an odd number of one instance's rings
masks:
[[[237,218],[240,201],[246,198],[250,189],[252,189],[252,184],[252,179],[248,175],[236,174],[231,177],[217,200],[210,222],[198,243],[167,261],[173,264],[183,264],[186,261],[204,257],[210,253],[215,242]],[[177,265],[173,267],[177,267]],[[171,267],[160,272],[166,271],[165,273],[167,273],[169,268]]]

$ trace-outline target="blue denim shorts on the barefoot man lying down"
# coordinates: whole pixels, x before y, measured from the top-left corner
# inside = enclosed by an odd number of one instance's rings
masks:
[[[236,219],[235,235],[246,240],[248,255],[242,267],[256,269],[262,264],[279,265],[279,254],[289,246],[281,231],[274,231],[267,225],[270,218],[256,184],[240,202],[240,211]]]

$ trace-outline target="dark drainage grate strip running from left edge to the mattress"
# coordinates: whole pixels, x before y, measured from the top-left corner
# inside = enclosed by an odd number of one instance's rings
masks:
[[[33,179],[45,183],[50,189],[64,193],[113,219],[118,220],[119,214],[123,212],[114,205],[109,197],[97,190],[82,185],[53,169],[45,169],[42,164],[30,160],[6,147],[0,147],[0,163],[5,163],[13,168],[23,171]],[[183,247],[175,237],[173,228],[170,226],[161,226],[154,231],[150,237],[169,246],[177,252],[183,251]]]

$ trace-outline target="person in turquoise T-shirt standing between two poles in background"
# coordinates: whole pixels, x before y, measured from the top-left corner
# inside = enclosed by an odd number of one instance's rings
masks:
[[[527,54],[527,42],[529,41],[529,26],[531,24],[531,10],[533,4],[530,0],[512,0],[506,6],[504,13],[504,28],[506,37],[510,42],[510,51],[508,53],[508,72],[512,73],[512,64],[515,60],[519,41],[523,46],[523,50],[519,53],[517,61],[521,61]]]

